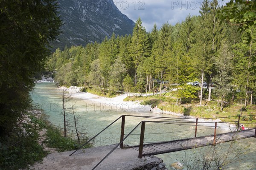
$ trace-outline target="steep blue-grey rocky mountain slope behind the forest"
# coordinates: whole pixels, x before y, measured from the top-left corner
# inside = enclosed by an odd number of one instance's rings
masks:
[[[102,42],[107,36],[132,34],[134,22],[122,14],[113,0],[58,0],[64,31],[52,47]]]

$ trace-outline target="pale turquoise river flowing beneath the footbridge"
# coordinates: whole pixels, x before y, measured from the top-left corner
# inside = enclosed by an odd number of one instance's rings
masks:
[[[49,121],[56,125],[62,127],[63,118],[61,115],[61,91],[56,87],[55,83],[42,82],[35,86],[34,91],[31,94],[32,101],[37,108],[44,110],[49,116]],[[91,98],[79,98],[74,97],[72,102],[69,101],[67,106],[71,103],[76,103],[74,105],[75,112],[79,118],[79,124],[83,127],[81,128],[87,136],[93,137],[99,133],[102,129],[108,126],[111,122],[117,119],[121,115],[139,115],[139,116],[160,116],[160,117],[173,117],[179,118],[178,116],[168,115],[168,114],[154,114],[149,111],[149,106],[140,106],[137,103],[125,102],[116,103],[111,101],[109,103],[102,103],[99,100]],[[149,120],[145,118],[138,118],[127,116],[125,118],[125,134],[128,134],[138,123],[142,120]],[[157,120],[157,119],[151,119]],[[176,119],[177,120],[177,119]],[[72,120],[70,120],[70,123]],[[120,140],[120,126],[121,119],[115,124],[105,130],[102,134],[97,136],[94,140],[94,146],[108,145],[118,143]],[[146,123],[145,127],[145,141],[144,142],[159,142],[168,141],[173,139],[182,139],[184,136],[192,137],[194,136],[194,126],[181,126],[181,125],[170,125],[170,124],[159,124],[159,123]],[[189,130],[189,131],[185,131]],[[219,128],[217,133],[226,132],[227,128]],[[180,131],[180,132],[177,132]],[[174,133],[177,132],[177,133]],[[198,136],[213,134],[214,129],[212,127],[206,130],[198,130]],[[124,144],[136,145],[140,141],[140,127],[132,133],[131,136],[125,140]],[[225,151],[228,150],[230,142],[222,144],[221,147],[223,151],[223,156]],[[236,148],[244,150],[238,161],[232,162],[228,165],[230,170],[256,170],[256,138],[241,139],[235,143]],[[170,164],[177,162],[177,160],[185,160],[189,158],[190,155],[196,156],[205,153],[209,147],[195,148],[185,151],[178,151],[174,153],[165,153],[157,155],[163,159],[166,163],[166,167],[171,170]],[[102,156],[103,158],[104,156]],[[190,161],[193,162],[193,161]],[[185,168],[186,169],[186,166]]]

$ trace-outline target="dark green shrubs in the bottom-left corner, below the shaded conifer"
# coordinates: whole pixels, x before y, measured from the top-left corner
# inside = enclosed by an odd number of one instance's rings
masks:
[[[31,121],[16,125],[9,136],[0,137],[0,169],[18,170],[40,161],[46,156],[43,147],[38,144],[38,129],[46,124],[30,116]]]

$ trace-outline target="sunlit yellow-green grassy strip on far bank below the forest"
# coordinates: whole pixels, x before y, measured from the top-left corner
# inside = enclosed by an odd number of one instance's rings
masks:
[[[221,118],[222,122],[231,122],[238,121],[238,116],[240,115],[241,107],[242,107],[242,115],[240,118],[241,124],[244,120],[249,120],[246,123],[255,123],[256,119],[256,105],[252,105],[252,107],[247,106],[244,108],[244,105],[238,102],[226,103],[224,104],[224,109],[221,111],[220,103],[218,106],[217,101],[207,102],[203,100],[202,106],[200,107],[200,103],[198,99],[186,99],[182,100],[181,104],[179,104],[179,99],[174,97],[175,94],[167,93],[165,96],[128,96],[124,101],[140,101],[143,105],[151,105],[154,107],[157,105],[163,111],[170,111],[175,113],[183,113],[186,116],[195,116],[198,118],[218,118],[218,117],[227,117]],[[177,105],[178,103],[178,105]],[[255,127],[253,124],[246,124],[246,127]]]

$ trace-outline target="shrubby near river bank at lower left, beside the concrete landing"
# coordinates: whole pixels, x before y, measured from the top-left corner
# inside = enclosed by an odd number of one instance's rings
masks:
[[[52,125],[42,111],[27,111],[17,122],[8,140],[1,140],[0,169],[18,170],[41,161],[47,154],[76,150],[80,147],[73,133],[63,135],[60,127]],[[87,137],[81,137],[85,143]],[[91,147],[91,144],[83,148]]]

